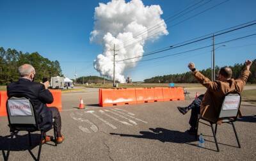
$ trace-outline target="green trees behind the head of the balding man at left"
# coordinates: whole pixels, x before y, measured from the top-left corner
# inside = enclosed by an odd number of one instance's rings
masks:
[[[31,64],[36,70],[35,81],[43,77],[62,76],[60,63],[40,56],[38,52],[23,53],[15,49],[4,50],[0,47],[0,85],[6,85],[19,79],[18,68],[25,63]]]

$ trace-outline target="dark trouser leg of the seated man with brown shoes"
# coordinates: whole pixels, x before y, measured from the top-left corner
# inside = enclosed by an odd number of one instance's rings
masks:
[[[60,112],[56,107],[48,107],[52,111],[52,118],[54,118],[53,126],[56,129],[57,137],[61,137],[61,117]]]

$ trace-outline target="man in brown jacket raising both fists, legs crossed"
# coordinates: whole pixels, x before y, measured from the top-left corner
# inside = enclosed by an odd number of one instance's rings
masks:
[[[246,81],[250,75],[250,66],[252,61],[245,61],[245,69],[241,73],[239,79],[232,79],[231,68],[224,66],[218,73],[218,80],[211,81],[202,73],[196,71],[195,64],[189,63],[188,68],[191,70],[195,78],[207,88],[204,95],[198,96],[192,104],[188,107],[178,107],[182,114],[186,114],[191,109],[191,117],[189,119],[189,125],[191,128],[187,131],[189,134],[196,133],[196,121],[198,114],[209,121],[215,122],[218,118],[218,111],[220,110],[223,97],[231,91],[241,93],[246,84]],[[239,111],[241,115],[241,112]]]

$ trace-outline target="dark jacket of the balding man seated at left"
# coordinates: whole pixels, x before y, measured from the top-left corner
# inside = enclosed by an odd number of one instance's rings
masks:
[[[18,82],[12,82],[7,86],[8,98],[26,97],[35,109],[35,116],[41,130],[47,132],[52,127],[52,112],[45,104],[51,104],[53,97],[44,84],[31,82],[20,78]]]

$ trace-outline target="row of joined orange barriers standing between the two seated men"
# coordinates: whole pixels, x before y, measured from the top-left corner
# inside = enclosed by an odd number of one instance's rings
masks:
[[[184,100],[183,88],[99,89],[101,107],[172,100]]]

